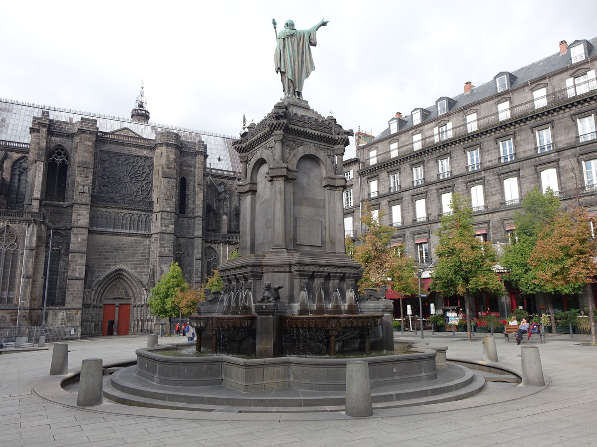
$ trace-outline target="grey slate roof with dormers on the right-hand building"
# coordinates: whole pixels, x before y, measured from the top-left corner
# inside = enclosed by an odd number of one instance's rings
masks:
[[[543,59],[538,60],[532,64],[529,64],[525,67],[522,67],[522,68],[516,70],[515,72],[510,72],[510,73],[512,73],[512,75],[516,76],[516,80],[512,83],[512,85],[510,86],[510,89],[516,88],[523,84],[526,84],[530,80],[536,79],[537,77],[547,75],[547,73],[555,72],[556,70],[559,70],[559,69],[569,66],[570,65],[570,47],[573,46],[573,44],[577,44],[578,42],[581,42],[581,41],[574,41],[572,44],[568,45],[569,51],[567,51],[565,54],[561,55],[561,54],[559,54],[559,52],[557,52],[555,54],[547,56],[546,58],[543,58]],[[589,42],[589,44],[593,45],[593,49],[590,50],[590,52],[589,52],[589,57],[597,55],[597,37],[595,37],[593,39],[589,39],[588,42]],[[590,47],[589,47],[589,49],[590,49]],[[507,72],[504,72],[504,73],[507,73]],[[454,101],[456,101],[456,104],[454,104],[454,106],[452,108],[466,107],[469,104],[476,103],[477,101],[483,101],[483,100],[485,100],[485,98],[490,98],[490,97],[496,95],[496,93],[497,93],[496,92],[496,83],[493,79],[491,79],[489,82],[486,82],[482,85],[479,85],[478,87],[473,88],[468,94],[465,94],[463,92],[460,95],[451,97]],[[503,93],[503,92],[500,92],[500,93]],[[415,108],[420,108],[420,107],[415,107]],[[415,108],[413,108],[413,110]],[[429,115],[427,115],[424,122],[429,122],[430,120],[433,120],[436,117],[438,117],[438,110],[437,110],[435,103],[433,103],[433,105],[430,105],[429,107],[423,107],[423,108],[426,108],[426,110],[429,110],[431,112]],[[404,128],[399,129],[399,132],[402,132],[402,131],[404,131],[404,129],[408,129],[413,126],[412,114],[409,116],[405,116],[402,119],[407,121],[407,125]],[[389,135],[390,135],[390,129],[388,127],[383,132],[381,132],[381,134],[377,135],[373,141],[377,141],[377,140],[385,138],[386,136],[389,136]]]

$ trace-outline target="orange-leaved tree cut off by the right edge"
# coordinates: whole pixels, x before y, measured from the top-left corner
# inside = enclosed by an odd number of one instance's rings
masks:
[[[597,241],[592,232],[592,218],[582,206],[561,210],[553,222],[543,228],[528,260],[534,269],[537,287],[556,293],[581,293],[589,300],[592,343],[595,334],[595,298],[592,283],[597,282]]]

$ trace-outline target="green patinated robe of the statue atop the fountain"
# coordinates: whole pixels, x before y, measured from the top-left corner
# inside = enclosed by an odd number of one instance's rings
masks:
[[[284,85],[286,95],[294,96],[294,92],[302,92],[304,80],[315,70],[309,46],[317,45],[316,33],[317,26],[312,26],[306,30],[288,27],[278,34],[273,58],[276,64],[276,73],[282,74],[282,85]],[[284,77],[287,77],[293,84],[293,91],[287,91]]]

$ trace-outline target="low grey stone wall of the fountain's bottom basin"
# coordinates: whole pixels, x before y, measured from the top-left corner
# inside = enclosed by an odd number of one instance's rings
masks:
[[[241,359],[227,355],[184,358],[161,355],[160,350],[164,349],[171,349],[171,346],[137,349],[136,375],[158,385],[223,385],[242,392],[279,388],[344,391],[346,363],[354,360],[304,357]],[[437,378],[433,350],[359,360],[369,364],[372,388]]]

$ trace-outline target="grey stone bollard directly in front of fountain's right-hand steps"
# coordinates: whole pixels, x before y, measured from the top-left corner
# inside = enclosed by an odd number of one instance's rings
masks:
[[[367,417],[373,415],[369,364],[362,360],[346,363],[346,415]]]

